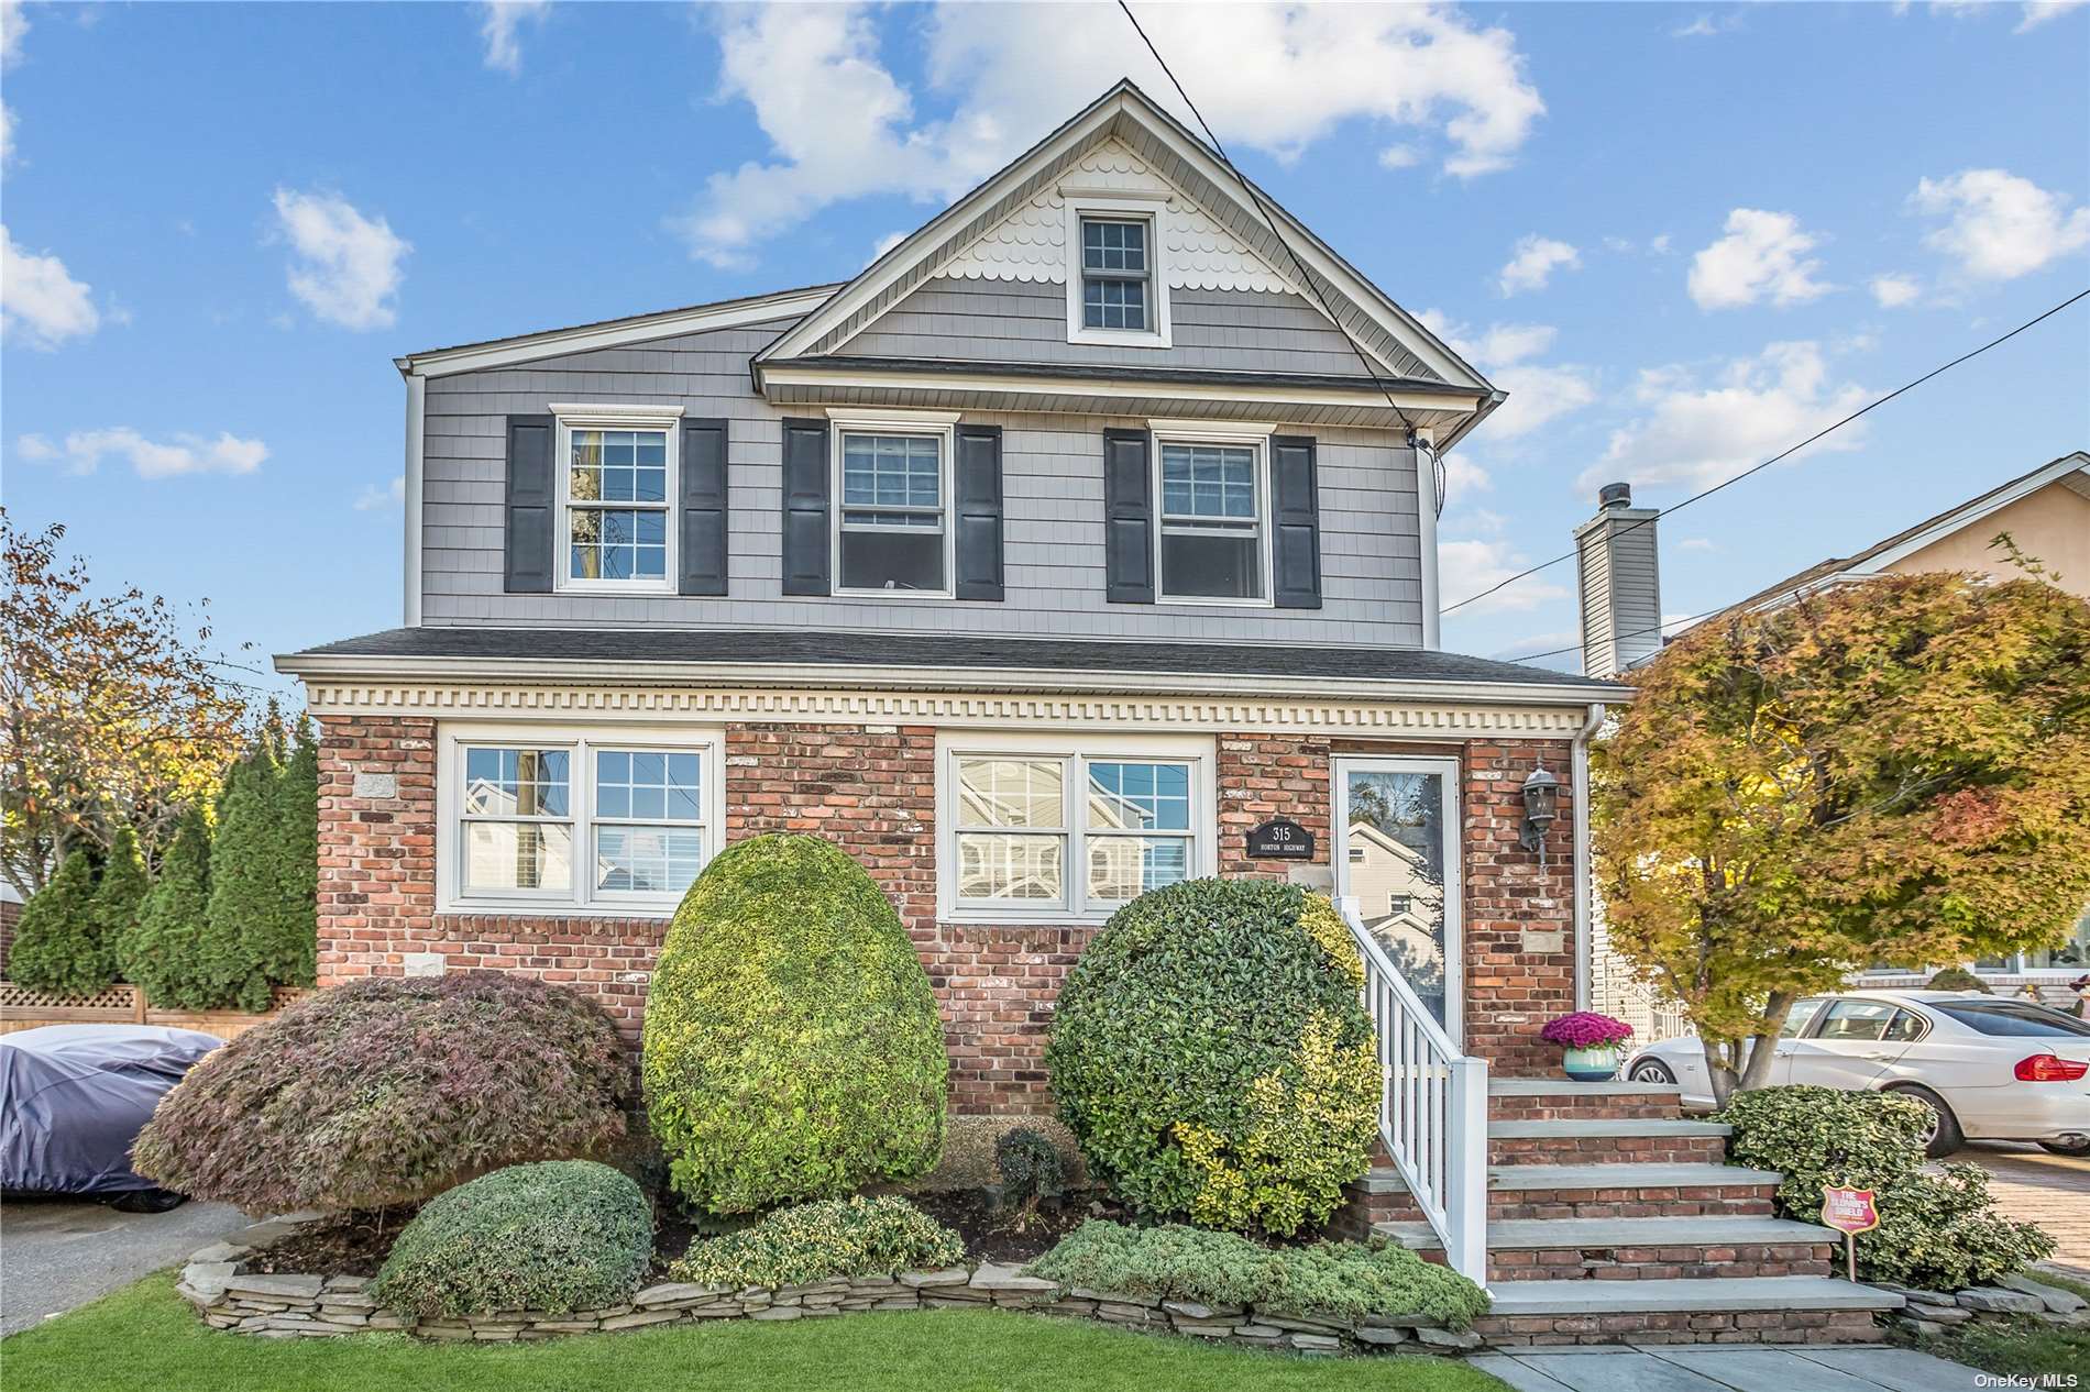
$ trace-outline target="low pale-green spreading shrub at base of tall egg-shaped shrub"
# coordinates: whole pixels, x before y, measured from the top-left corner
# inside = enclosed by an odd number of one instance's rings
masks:
[[[702,1285],[807,1285],[961,1260],[966,1239],[907,1200],[859,1196],[780,1208],[738,1233],[696,1242],[673,1275]]]

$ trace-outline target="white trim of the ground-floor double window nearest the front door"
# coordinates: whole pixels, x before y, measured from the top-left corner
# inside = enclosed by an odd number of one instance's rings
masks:
[[[1053,905],[968,905],[957,899],[957,759],[1007,755],[1012,759],[1066,759],[1070,773],[1062,786],[1068,855],[1062,863],[1066,903]],[[1089,907],[1085,846],[1087,826],[1087,761],[1168,761],[1187,763],[1189,771],[1189,878],[1218,874],[1218,803],[1214,788],[1212,740],[1195,736],[1091,736],[1091,734],[993,734],[947,732],[936,736],[936,918],[953,924],[1099,924],[1116,913],[1120,903]],[[974,828],[978,830],[978,828]]]

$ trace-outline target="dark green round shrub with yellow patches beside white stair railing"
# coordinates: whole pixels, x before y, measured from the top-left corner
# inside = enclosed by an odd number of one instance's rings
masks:
[[[1363,968],[1336,907],[1187,880],[1110,915],[1068,972],[1045,1064],[1118,1198],[1237,1231],[1325,1223],[1379,1114]]]

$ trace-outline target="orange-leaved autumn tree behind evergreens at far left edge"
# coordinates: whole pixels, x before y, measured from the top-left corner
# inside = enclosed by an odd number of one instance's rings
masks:
[[[63,527],[0,512],[0,874],[27,899],[130,826],[157,863],[238,755],[249,713],[167,600],[96,591]]]

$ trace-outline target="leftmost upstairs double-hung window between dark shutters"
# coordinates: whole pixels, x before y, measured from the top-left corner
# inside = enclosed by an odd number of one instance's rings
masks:
[[[560,587],[671,589],[679,412],[568,410],[558,416]]]

